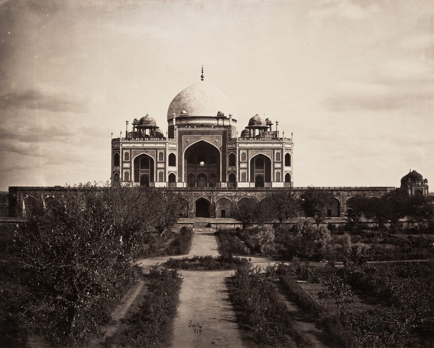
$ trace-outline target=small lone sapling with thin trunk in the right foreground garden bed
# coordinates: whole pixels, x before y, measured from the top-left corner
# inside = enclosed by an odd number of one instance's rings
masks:
[[[321,280],[325,290],[318,292],[320,299],[331,298],[335,300],[335,304],[339,310],[342,305],[347,305],[354,301],[351,286],[344,279],[339,277],[335,272],[327,272]]]

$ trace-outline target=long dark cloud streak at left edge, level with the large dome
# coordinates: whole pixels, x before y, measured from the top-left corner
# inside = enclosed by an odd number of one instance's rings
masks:
[[[23,92],[11,91],[0,95],[0,109],[30,108],[50,112],[85,113],[87,102],[71,99],[65,95],[45,92],[41,89],[28,89]]]

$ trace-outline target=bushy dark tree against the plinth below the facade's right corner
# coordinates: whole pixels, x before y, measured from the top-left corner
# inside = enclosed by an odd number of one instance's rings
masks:
[[[277,189],[268,195],[271,203],[273,220],[279,221],[280,226],[284,220],[292,220],[299,211],[299,200],[291,190]]]

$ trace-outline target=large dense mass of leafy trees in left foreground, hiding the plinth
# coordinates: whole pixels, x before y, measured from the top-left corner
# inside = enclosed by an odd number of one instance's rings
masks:
[[[106,314],[90,309],[132,279],[151,230],[178,216],[174,209],[162,211],[173,202],[161,190],[86,184],[72,187],[62,204],[26,217],[16,232],[16,257],[35,301],[54,309],[54,335],[64,332],[68,345],[86,344],[82,332],[89,327],[83,328],[85,315],[79,315],[90,313],[94,328],[105,320]],[[73,344],[77,337],[81,341]]]

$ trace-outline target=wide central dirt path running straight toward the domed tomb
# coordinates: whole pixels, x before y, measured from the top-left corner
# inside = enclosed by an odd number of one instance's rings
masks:
[[[195,229],[189,257],[218,255],[214,230]],[[181,270],[178,313],[172,346],[176,348],[244,347],[230,303],[225,277],[228,271]],[[201,327],[194,327],[199,324]]]

